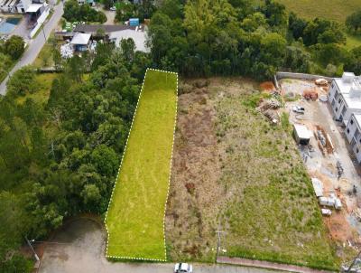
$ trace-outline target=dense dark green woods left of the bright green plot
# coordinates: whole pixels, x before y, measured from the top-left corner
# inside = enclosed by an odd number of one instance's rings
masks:
[[[25,235],[42,238],[69,216],[106,212],[149,58],[131,40],[98,51],[88,80],[86,61],[64,63],[45,105],[18,102],[37,91],[31,67],[0,98],[2,272],[27,271],[15,251]]]

